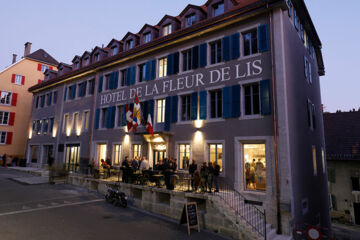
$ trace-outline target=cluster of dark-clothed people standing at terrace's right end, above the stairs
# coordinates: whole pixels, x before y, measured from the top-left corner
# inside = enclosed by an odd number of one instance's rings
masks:
[[[191,175],[191,188],[197,191],[200,187],[202,192],[212,192],[213,184],[215,192],[219,192],[219,176],[220,165],[217,162],[203,162],[200,169],[193,160],[189,166],[189,174]]]

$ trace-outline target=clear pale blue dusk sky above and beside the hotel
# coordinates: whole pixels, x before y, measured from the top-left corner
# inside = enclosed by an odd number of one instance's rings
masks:
[[[206,0],[14,0],[0,7],[0,71],[11,64],[12,54],[42,48],[59,62],[71,63],[75,55],[95,46],[137,33],[145,23],[156,25],[165,14],[177,16],[187,4]],[[321,77],[326,110],[349,111],[360,107],[360,1],[305,1],[323,44],[326,75]]]

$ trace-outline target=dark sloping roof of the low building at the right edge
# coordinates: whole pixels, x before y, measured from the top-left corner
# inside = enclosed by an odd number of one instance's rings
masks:
[[[327,159],[360,160],[360,111],[324,114]]]

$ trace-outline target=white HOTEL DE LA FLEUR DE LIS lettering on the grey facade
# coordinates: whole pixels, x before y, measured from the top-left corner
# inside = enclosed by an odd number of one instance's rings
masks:
[[[205,69],[205,72],[191,73],[183,76],[168,76],[164,79],[144,82],[143,84],[124,87],[114,92],[103,93],[100,104],[127,103],[134,99],[135,93],[139,98],[153,97],[175,93],[178,91],[196,90],[210,86],[222,85],[231,80],[260,77],[263,73],[262,60],[250,60],[232,66]]]

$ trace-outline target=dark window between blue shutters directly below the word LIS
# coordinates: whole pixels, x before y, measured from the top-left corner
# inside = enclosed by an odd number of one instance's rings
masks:
[[[244,86],[245,115],[260,114],[259,83]]]

